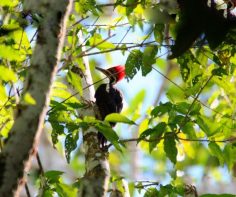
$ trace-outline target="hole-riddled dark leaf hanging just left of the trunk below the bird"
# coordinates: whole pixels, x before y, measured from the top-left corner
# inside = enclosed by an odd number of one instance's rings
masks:
[[[66,136],[65,139],[65,155],[66,155],[66,160],[68,163],[70,163],[70,153],[76,149],[77,147],[77,140],[78,140],[78,133],[69,133]]]

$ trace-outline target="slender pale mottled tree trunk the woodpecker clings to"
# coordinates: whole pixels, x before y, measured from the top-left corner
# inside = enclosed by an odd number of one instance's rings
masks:
[[[79,33],[80,42],[82,43],[82,33]],[[85,48],[83,48],[85,51]],[[92,84],[92,77],[89,68],[88,57],[83,57],[86,71],[83,78],[83,87]],[[94,101],[94,86],[86,88],[83,92],[84,98]],[[99,114],[94,104],[92,107],[79,112],[82,117],[93,116]],[[99,115],[98,115],[99,117]],[[108,163],[108,150],[100,148],[98,131],[94,127],[89,127],[83,131],[83,146],[85,153],[85,175],[81,179],[81,187],[79,190],[80,197],[103,197],[106,196],[108,190],[108,182],[110,178],[110,168]]]

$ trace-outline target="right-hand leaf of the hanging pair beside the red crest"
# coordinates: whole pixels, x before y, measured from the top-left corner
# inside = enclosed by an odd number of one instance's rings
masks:
[[[152,70],[152,65],[156,63],[155,56],[157,54],[158,47],[156,45],[147,46],[143,52],[143,67],[142,75],[146,76]]]

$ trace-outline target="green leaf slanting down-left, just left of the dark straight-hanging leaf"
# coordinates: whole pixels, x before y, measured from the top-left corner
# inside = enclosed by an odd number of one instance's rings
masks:
[[[157,144],[161,141],[161,136],[165,132],[166,129],[166,123],[160,122],[158,125],[156,125],[153,128],[153,132],[150,134],[150,142],[149,142],[149,152],[151,153],[153,149],[157,146]],[[154,140],[154,141],[152,141]]]

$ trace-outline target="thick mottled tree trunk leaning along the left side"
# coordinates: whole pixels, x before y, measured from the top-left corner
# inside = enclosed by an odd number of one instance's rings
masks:
[[[40,13],[37,43],[31,59],[24,93],[10,136],[0,155],[0,196],[18,196],[24,170],[30,164],[30,156],[37,147],[42,131],[53,77],[57,71],[65,37],[66,21],[72,0],[25,0],[25,9]],[[35,105],[24,102],[30,94]]]

